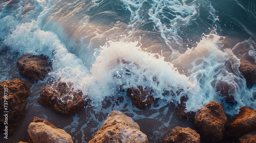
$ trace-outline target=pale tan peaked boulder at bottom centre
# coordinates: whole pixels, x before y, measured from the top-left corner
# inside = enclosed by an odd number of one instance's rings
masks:
[[[148,142],[147,136],[131,117],[120,111],[112,111],[102,127],[95,133],[89,143],[96,142]]]

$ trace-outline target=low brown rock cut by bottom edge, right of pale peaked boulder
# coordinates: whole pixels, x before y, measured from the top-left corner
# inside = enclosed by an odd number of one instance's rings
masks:
[[[170,130],[170,133],[163,139],[162,143],[184,143],[184,142],[200,142],[200,135],[191,128],[175,127]]]

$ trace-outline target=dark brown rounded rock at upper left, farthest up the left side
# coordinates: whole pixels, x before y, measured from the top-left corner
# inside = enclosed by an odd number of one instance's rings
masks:
[[[17,62],[20,74],[32,80],[43,80],[50,71],[51,63],[44,55],[22,55]]]

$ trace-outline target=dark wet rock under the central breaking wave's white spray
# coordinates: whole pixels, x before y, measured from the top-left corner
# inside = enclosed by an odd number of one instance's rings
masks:
[[[133,105],[141,110],[151,107],[154,103],[151,92],[143,89],[142,86],[127,89],[127,95],[131,98]]]

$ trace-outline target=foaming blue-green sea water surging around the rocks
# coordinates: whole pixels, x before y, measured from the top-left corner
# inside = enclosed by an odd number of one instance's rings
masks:
[[[229,117],[242,106],[256,109],[256,84],[246,86],[238,71],[241,55],[232,53],[245,41],[249,50],[239,50],[256,61],[255,7],[253,0],[0,1],[0,82],[27,80],[18,73],[20,55],[44,54],[53,63],[48,77],[31,87],[15,134],[1,140],[25,141],[38,116],[65,129],[74,142],[88,142],[108,113],[119,110],[158,142],[176,126],[194,128],[174,112],[182,96],[188,111],[212,100]],[[58,79],[73,82],[91,103],[68,117],[42,107],[40,89]],[[218,83],[231,87],[233,102],[220,96]],[[151,88],[156,100],[143,111],[126,96],[126,89],[139,85]]]

